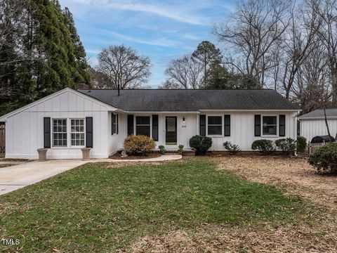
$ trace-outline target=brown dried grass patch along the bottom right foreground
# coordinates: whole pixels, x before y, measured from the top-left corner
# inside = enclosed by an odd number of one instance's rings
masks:
[[[197,230],[140,238],[128,252],[336,252],[334,228],[309,227],[304,223],[296,228],[267,224],[263,228],[206,225]]]

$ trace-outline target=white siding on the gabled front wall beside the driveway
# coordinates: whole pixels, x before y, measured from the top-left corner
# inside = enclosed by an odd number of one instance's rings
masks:
[[[37,159],[38,148],[44,148],[44,117],[93,117],[91,157],[108,156],[108,107],[72,91],[64,91],[32,105],[6,119],[6,157]],[[67,136],[68,143],[70,134]],[[81,158],[81,148],[51,148],[48,159]]]

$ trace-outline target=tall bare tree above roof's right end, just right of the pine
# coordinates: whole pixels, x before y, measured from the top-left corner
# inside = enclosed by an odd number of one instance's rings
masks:
[[[289,26],[290,6],[291,1],[239,1],[230,19],[213,28],[230,52],[225,64],[265,86],[267,72],[275,67],[275,50]]]

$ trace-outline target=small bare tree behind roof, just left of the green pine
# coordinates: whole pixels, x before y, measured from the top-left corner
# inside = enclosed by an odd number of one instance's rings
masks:
[[[171,89],[199,89],[202,82],[203,65],[192,56],[183,56],[171,60],[165,70],[168,77],[166,88]],[[169,86],[167,86],[169,84]]]

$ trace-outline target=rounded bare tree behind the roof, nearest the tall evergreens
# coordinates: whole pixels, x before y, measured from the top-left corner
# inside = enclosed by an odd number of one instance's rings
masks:
[[[130,47],[109,46],[98,55],[98,71],[111,80],[111,89],[136,89],[148,82],[150,58],[138,56]]]

